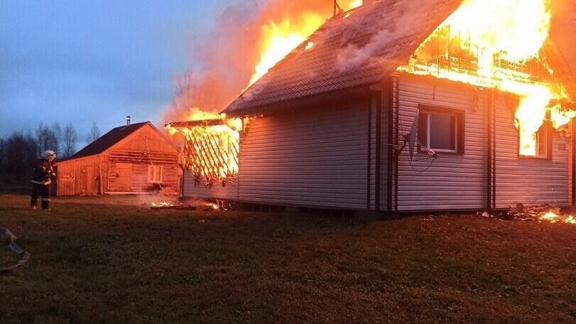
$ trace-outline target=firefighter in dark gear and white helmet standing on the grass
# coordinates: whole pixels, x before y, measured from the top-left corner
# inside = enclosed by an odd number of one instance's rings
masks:
[[[32,175],[32,199],[30,205],[36,209],[38,197],[42,197],[42,209],[50,210],[50,184],[55,180],[56,173],[52,167],[52,161],[56,158],[55,151],[44,151],[42,158],[34,168]]]

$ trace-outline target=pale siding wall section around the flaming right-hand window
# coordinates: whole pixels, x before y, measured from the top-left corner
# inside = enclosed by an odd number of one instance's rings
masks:
[[[513,126],[514,108],[506,95],[496,95],[496,207],[521,202],[526,205],[570,204],[568,154],[570,138],[553,135],[552,158],[518,157],[518,131]]]

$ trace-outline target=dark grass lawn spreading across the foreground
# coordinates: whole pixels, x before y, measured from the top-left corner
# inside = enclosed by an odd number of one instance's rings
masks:
[[[575,323],[576,226],[0,195],[0,323]],[[0,247],[0,267],[11,261]]]

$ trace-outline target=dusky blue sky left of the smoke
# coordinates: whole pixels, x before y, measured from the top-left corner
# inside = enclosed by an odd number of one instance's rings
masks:
[[[233,0],[1,0],[0,137],[72,122],[80,146],[93,121],[161,123],[173,78],[195,65]]]

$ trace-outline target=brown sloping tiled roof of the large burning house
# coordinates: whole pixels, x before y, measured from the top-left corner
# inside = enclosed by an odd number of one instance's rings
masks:
[[[278,102],[382,80],[405,63],[461,0],[383,0],[331,18],[224,112],[261,113]],[[418,21],[418,23],[414,23]],[[306,50],[308,42],[314,45]]]

